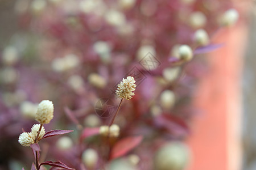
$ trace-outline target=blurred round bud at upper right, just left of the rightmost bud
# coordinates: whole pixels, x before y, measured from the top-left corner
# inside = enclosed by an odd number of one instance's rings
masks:
[[[202,28],[207,23],[207,18],[202,12],[193,12],[189,17],[189,24],[192,28]]]

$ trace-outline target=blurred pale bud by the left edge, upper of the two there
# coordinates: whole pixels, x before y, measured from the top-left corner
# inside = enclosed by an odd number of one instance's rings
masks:
[[[3,50],[2,61],[5,65],[12,66],[19,59],[18,51],[14,46],[7,46]]]

